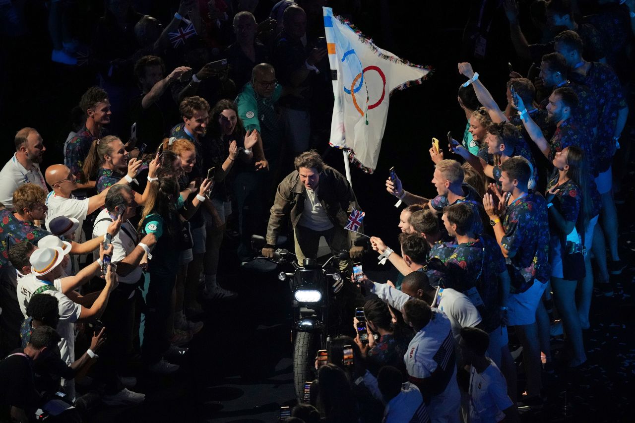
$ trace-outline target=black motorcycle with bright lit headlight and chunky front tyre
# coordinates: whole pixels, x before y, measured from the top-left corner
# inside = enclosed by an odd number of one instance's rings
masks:
[[[344,287],[344,279],[338,271],[337,260],[349,258],[348,250],[331,255],[324,264],[318,264],[314,258],[305,258],[298,265],[295,254],[279,248],[273,258],[260,255],[265,245],[262,236],[251,237],[251,246],[258,251],[250,264],[252,269],[281,271],[277,275],[280,281],[288,281],[293,293],[292,333],[293,333],[293,384],[298,401],[304,398],[304,384],[315,379],[315,360],[318,350],[326,349],[331,337],[337,336],[342,325],[342,307],[338,295]]]

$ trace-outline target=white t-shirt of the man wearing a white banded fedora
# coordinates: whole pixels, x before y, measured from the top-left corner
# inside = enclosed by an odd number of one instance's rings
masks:
[[[44,285],[49,284],[40,281],[32,273],[18,279],[18,303],[20,303],[20,311],[22,311],[24,318],[27,318],[27,304],[29,304],[33,293]],[[71,365],[75,361],[75,323],[81,314],[81,305],[72,302],[69,297],[62,293],[60,279],[55,279],[53,286],[55,290],[46,290],[43,293],[53,295],[58,300],[60,321],[57,324],[57,333],[62,337],[58,346],[62,352],[62,359]]]

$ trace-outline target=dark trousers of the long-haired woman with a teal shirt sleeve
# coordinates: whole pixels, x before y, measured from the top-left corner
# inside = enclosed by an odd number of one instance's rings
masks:
[[[166,339],[166,325],[171,316],[170,304],[176,280],[176,273],[150,269],[150,283],[145,295],[145,328],[142,346],[142,357],[145,363],[150,365],[159,361],[161,354],[170,348],[170,341]]]

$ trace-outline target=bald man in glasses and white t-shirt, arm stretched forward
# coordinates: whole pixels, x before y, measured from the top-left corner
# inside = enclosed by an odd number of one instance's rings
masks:
[[[141,162],[138,161],[140,164]],[[139,166],[137,166],[138,168]],[[121,178],[117,184],[128,184],[128,177],[130,180],[135,177],[137,172],[135,171],[131,175],[131,166],[128,167],[128,175]],[[92,196],[85,199],[72,198],[73,190],[77,189],[77,177],[73,175],[70,169],[64,164],[53,164],[46,168],[46,183],[53,189],[52,192],[46,197],[46,206],[48,212],[46,213],[46,229],[48,229],[48,223],[53,218],[58,216],[73,217],[79,220],[79,227],[75,232],[75,240],[81,242],[81,228],[84,224],[86,216],[93,213],[101,206],[104,205],[106,194],[110,187],[100,192],[96,196]]]

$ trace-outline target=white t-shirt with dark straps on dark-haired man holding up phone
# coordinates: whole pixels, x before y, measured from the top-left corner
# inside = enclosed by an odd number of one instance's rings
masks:
[[[112,219],[107,209],[100,211],[100,213],[97,215],[97,218],[95,218],[95,227],[93,227],[92,238],[97,238],[98,236],[104,236],[104,234],[108,230],[108,227],[112,223],[112,221],[102,220],[105,218]],[[100,222],[100,220],[102,220],[102,222]],[[132,236],[137,236],[137,231],[135,230],[134,225],[130,223],[130,220],[126,220],[126,222],[123,222],[123,224],[121,224],[121,228],[119,229],[119,232],[117,232],[117,234],[114,237],[112,237],[113,248],[112,248],[112,257],[110,258],[110,262],[114,264],[121,262],[121,260],[126,258],[126,256],[130,254],[132,250],[134,250],[135,247],[137,246],[137,239],[130,238],[128,234],[131,234]],[[95,258],[95,260],[97,260],[97,258],[99,258],[99,252],[98,251],[93,252],[93,257]],[[139,279],[141,278],[142,273],[143,271],[141,267],[137,266],[135,267],[133,271],[128,273],[126,276],[119,276],[118,277],[119,283],[137,283]]]

